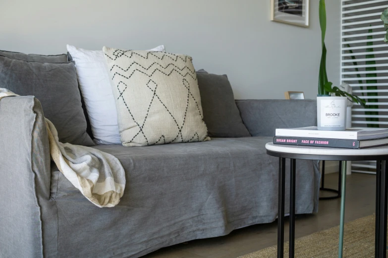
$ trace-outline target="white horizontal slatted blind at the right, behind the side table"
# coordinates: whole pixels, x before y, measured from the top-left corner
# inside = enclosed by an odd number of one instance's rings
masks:
[[[388,44],[380,19],[388,0],[341,0],[341,83],[365,99],[352,108],[352,127],[388,127]],[[352,172],[375,172],[374,162],[352,162]]]

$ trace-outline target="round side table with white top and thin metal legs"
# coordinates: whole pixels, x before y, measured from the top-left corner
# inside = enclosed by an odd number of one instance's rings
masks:
[[[387,193],[388,193],[388,146],[366,149],[343,149],[328,147],[266,144],[267,154],[279,158],[279,188],[277,208],[277,258],[283,258],[284,248],[284,191],[285,159],[290,159],[290,217],[289,257],[294,258],[295,248],[295,164],[296,160],[342,161],[341,213],[339,225],[338,257],[342,258],[343,220],[345,215],[346,161],[377,161],[376,168],[376,224],[375,257],[387,256]]]

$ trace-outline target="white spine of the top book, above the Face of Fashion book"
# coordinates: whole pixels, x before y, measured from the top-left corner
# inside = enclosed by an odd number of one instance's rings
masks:
[[[276,136],[357,140],[357,132],[354,131],[276,129]]]

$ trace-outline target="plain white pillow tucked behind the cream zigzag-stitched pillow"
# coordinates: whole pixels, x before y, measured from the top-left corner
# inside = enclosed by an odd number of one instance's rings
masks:
[[[85,101],[90,125],[97,144],[121,144],[117,111],[102,50],[87,50],[67,45],[75,62],[78,83]],[[163,51],[160,45],[147,51]]]

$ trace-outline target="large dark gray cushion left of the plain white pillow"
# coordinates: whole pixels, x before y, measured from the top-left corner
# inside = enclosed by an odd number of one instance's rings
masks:
[[[73,62],[27,62],[0,55],[0,87],[19,95],[35,96],[42,104],[45,117],[55,125],[60,142],[94,145],[86,133]]]

